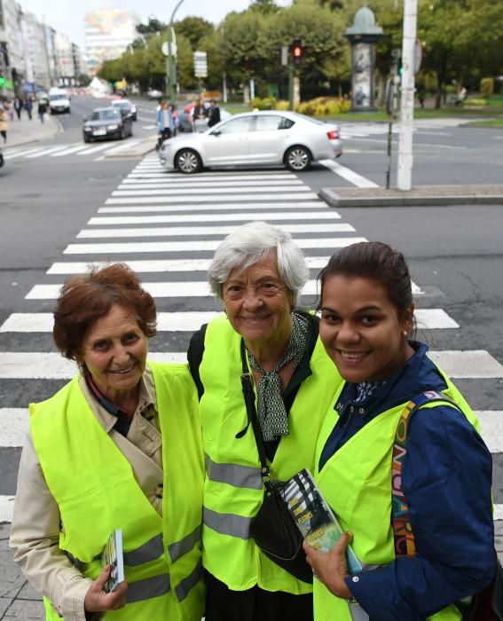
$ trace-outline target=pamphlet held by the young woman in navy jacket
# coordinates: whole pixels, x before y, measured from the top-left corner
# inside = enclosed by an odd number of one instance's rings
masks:
[[[342,535],[342,528],[306,468],[285,484],[283,499],[287,503],[303,538],[319,552],[329,552]],[[363,569],[351,546],[346,550],[350,574]]]

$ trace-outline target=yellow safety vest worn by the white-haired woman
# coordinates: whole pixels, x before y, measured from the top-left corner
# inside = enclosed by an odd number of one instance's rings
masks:
[[[267,591],[310,593],[312,586],[294,578],[263,554],[249,537],[251,519],[262,504],[260,460],[251,425],[247,425],[241,390],[241,336],[224,316],[213,319],[200,364],[204,394],[200,400],[207,476],[203,509],[203,565],[234,591],[255,585]],[[271,463],[271,476],[287,480],[312,468],[326,408],[342,381],[318,339],[310,358],[312,374],[303,381],[288,414]]]

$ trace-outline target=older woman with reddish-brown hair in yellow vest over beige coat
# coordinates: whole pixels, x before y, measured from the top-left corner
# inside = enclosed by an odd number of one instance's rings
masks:
[[[184,365],[147,362],[151,295],[121,263],[69,279],[54,340],[80,373],[31,404],[12,521],[15,560],[47,619],[200,621],[203,461]],[[125,581],[100,556],[122,529]],[[105,614],[108,617],[107,614]]]

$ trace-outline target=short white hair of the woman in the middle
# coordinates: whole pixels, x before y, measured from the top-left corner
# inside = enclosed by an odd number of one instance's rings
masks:
[[[309,279],[309,269],[303,251],[297,246],[289,232],[266,222],[248,222],[230,233],[216,248],[208,269],[211,290],[222,299],[222,285],[232,270],[240,267],[246,270],[250,265],[262,261],[275,251],[278,257],[279,276],[294,296],[294,303],[300,290]]]

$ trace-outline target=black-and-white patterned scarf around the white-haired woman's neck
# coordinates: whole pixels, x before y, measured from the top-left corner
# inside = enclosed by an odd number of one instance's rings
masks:
[[[281,397],[281,381],[278,373],[291,361],[295,369],[303,358],[308,342],[308,326],[307,318],[292,313],[292,334],[287,349],[272,371],[264,371],[248,350],[250,366],[257,373],[261,373],[256,392],[258,395],[257,414],[264,442],[271,442],[279,436],[288,435],[287,410]]]

